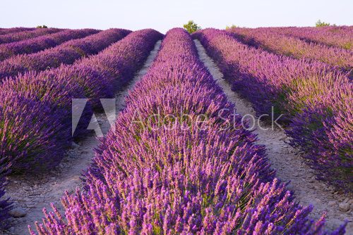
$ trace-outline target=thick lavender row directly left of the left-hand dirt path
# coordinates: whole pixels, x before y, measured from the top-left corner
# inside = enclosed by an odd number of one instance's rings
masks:
[[[128,33],[120,31],[121,37]],[[74,65],[28,72],[4,82],[0,91],[0,161],[6,170],[28,173],[56,166],[71,145],[71,100],[92,101],[83,114],[89,121],[97,106],[94,101],[112,98],[114,85],[131,80],[161,38],[155,30],[140,30]],[[1,212],[0,222],[6,218],[6,210]]]

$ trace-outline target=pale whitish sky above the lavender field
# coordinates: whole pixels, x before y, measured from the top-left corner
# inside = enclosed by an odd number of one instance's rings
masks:
[[[201,27],[314,26],[317,20],[353,25],[353,0],[0,0],[0,27],[166,32],[194,20]]]

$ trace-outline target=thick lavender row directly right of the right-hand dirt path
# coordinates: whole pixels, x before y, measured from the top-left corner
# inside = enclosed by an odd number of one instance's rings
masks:
[[[318,179],[352,190],[353,87],[347,74],[246,46],[222,30],[194,37],[258,115],[271,115],[272,107],[275,115],[286,115],[291,143],[306,152]]]

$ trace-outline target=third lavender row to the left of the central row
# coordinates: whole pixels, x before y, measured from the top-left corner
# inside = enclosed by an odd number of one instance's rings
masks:
[[[54,34],[35,37],[34,39],[22,40],[20,42],[12,42],[0,45],[0,61],[19,54],[35,53],[50,47],[57,46],[71,39],[79,39],[95,34],[99,30],[83,29],[83,30],[63,30]]]

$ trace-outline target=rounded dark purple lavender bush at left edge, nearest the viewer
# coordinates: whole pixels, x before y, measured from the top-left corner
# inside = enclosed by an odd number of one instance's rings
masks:
[[[0,156],[13,172],[36,172],[53,167],[70,143],[62,114],[47,101],[28,99],[18,91],[0,91]]]

